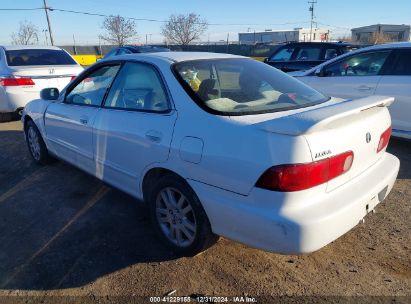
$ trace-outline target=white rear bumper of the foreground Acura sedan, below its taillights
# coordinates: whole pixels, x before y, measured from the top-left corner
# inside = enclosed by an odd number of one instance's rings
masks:
[[[398,158],[385,153],[341,187],[309,196],[258,188],[242,196],[189,183],[216,234],[266,251],[301,254],[324,247],[356,226],[391,191],[399,166]]]

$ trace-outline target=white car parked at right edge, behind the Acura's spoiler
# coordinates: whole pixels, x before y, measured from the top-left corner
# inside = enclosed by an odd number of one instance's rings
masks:
[[[395,97],[389,107],[393,136],[411,139],[411,43],[359,49],[293,76],[329,96]]]

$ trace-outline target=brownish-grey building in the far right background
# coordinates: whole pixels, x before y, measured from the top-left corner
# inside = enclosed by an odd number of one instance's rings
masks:
[[[351,29],[353,42],[373,42],[373,37],[382,34],[390,41],[410,41],[410,26],[395,24],[375,24]]]

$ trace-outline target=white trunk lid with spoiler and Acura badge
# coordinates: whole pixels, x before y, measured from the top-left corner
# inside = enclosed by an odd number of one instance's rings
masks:
[[[351,169],[327,184],[331,191],[360,175],[383,155],[377,153],[380,136],[391,126],[387,106],[392,97],[370,96],[302,111],[258,125],[268,132],[303,136],[313,161],[347,151],[354,153]]]

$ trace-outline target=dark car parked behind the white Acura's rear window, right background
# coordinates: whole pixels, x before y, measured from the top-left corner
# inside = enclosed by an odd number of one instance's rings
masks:
[[[281,46],[264,62],[283,72],[308,70],[359,47],[343,42],[294,42]]]

